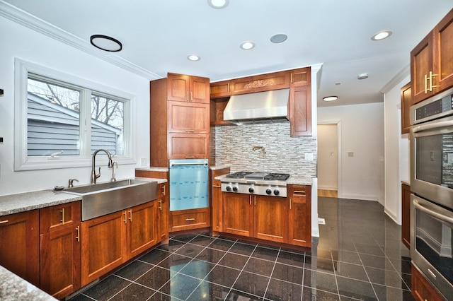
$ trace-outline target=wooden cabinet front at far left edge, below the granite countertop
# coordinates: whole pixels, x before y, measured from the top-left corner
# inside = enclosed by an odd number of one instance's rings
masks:
[[[39,285],[39,211],[0,216],[0,265]]]

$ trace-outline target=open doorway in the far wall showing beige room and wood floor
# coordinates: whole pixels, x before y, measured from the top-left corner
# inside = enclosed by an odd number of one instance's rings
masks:
[[[318,124],[318,196],[338,197],[339,123]]]

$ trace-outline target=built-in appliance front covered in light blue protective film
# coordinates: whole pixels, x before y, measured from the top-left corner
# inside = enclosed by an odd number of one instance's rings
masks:
[[[208,206],[208,160],[170,160],[170,211]]]

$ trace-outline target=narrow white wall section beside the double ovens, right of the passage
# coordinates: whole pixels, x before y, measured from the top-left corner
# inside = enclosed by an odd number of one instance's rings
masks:
[[[401,225],[401,180],[409,180],[408,134],[401,134],[401,87],[406,76],[384,94],[385,104],[385,201],[388,216]]]

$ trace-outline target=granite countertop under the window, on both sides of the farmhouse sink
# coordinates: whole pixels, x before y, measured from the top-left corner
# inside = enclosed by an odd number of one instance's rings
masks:
[[[148,177],[134,177],[134,179],[156,181],[158,184],[167,182],[166,179]],[[53,191],[52,189],[9,194],[7,196],[0,196],[0,216],[55,206],[61,203],[70,203],[72,201],[79,201],[80,199],[80,196],[67,194],[62,191]]]

